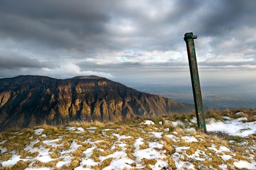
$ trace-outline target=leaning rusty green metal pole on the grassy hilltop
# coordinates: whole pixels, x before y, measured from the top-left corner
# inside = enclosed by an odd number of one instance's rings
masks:
[[[184,41],[186,42],[186,49],[189,57],[190,76],[193,88],[195,113],[198,122],[198,128],[204,130],[204,132],[207,132],[204,120],[204,107],[198,74],[198,64],[196,62],[195,56],[194,39],[196,38],[197,36],[193,35],[193,33],[185,33],[184,35]]]

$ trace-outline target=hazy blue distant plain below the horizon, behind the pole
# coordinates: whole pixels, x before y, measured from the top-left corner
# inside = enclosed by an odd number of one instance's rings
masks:
[[[239,82],[238,82],[239,83]],[[161,95],[175,102],[193,104],[192,86],[167,82],[130,82],[129,87],[139,91]],[[245,83],[246,84],[246,83]],[[256,108],[256,89],[243,84],[201,84],[203,103],[214,108]]]

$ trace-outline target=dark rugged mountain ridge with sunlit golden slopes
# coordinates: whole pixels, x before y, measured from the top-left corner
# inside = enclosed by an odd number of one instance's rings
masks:
[[[139,92],[103,77],[54,79],[20,75],[0,79],[0,128],[63,124],[68,121],[121,121],[188,111],[184,104]]]

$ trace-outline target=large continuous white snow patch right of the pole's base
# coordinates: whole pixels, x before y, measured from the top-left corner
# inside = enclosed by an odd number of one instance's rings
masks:
[[[227,117],[225,117],[227,119]],[[225,121],[215,121],[211,124],[207,124],[207,131],[212,132],[225,132],[229,135],[238,135],[241,137],[247,137],[250,134],[256,133],[256,121],[247,121],[246,117],[240,117],[238,119],[232,119],[228,117]]]

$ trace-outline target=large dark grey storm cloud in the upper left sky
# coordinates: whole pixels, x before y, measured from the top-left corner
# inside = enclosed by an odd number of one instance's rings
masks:
[[[91,2],[1,2],[0,35],[51,48],[86,48],[84,38],[101,34],[108,20],[106,9],[101,10],[104,4]]]

